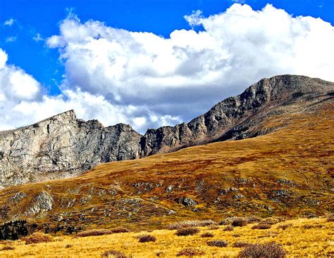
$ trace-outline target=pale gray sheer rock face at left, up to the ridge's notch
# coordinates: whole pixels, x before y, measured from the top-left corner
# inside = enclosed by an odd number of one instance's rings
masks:
[[[0,132],[0,186],[70,177],[99,162],[139,157],[140,134],[129,125],[84,122],[73,110]]]

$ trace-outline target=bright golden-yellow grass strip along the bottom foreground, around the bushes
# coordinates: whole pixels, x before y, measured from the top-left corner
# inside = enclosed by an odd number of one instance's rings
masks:
[[[295,219],[288,221],[291,226],[283,230],[282,225],[275,224],[268,230],[254,230],[249,224],[237,227],[234,231],[223,231],[201,227],[201,233],[212,233],[210,240],[225,240],[227,247],[211,247],[207,238],[200,234],[194,236],[175,236],[175,231],[157,230],[149,234],[156,238],[155,242],[140,243],[138,236],[147,234],[118,233],[105,236],[89,236],[73,238],[71,236],[55,237],[54,242],[25,245],[22,240],[13,241],[15,250],[0,251],[0,257],[101,257],[106,250],[117,250],[137,257],[175,257],[180,250],[187,247],[205,252],[201,257],[237,257],[240,247],[234,243],[269,243],[274,241],[283,246],[287,257],[333,257],[334,255],[334,223],[325,218]],[[308,225],[305,228],[305,225]],[[6,243],[0,244],[0,250]]]

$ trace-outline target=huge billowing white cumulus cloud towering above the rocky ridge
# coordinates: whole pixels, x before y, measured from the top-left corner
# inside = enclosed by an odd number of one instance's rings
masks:
[[[224,13],[205,18],[194,11],[185,19],[203,30],[175,30],[163,38],[70,15],[47,39],[66,68],[61,95],[25,98],[13,110],[36,119],[74,108],[82,118],[144,131],[188,121],[263,77],[334,81],[334,27],[320,18],[233,4]]]

